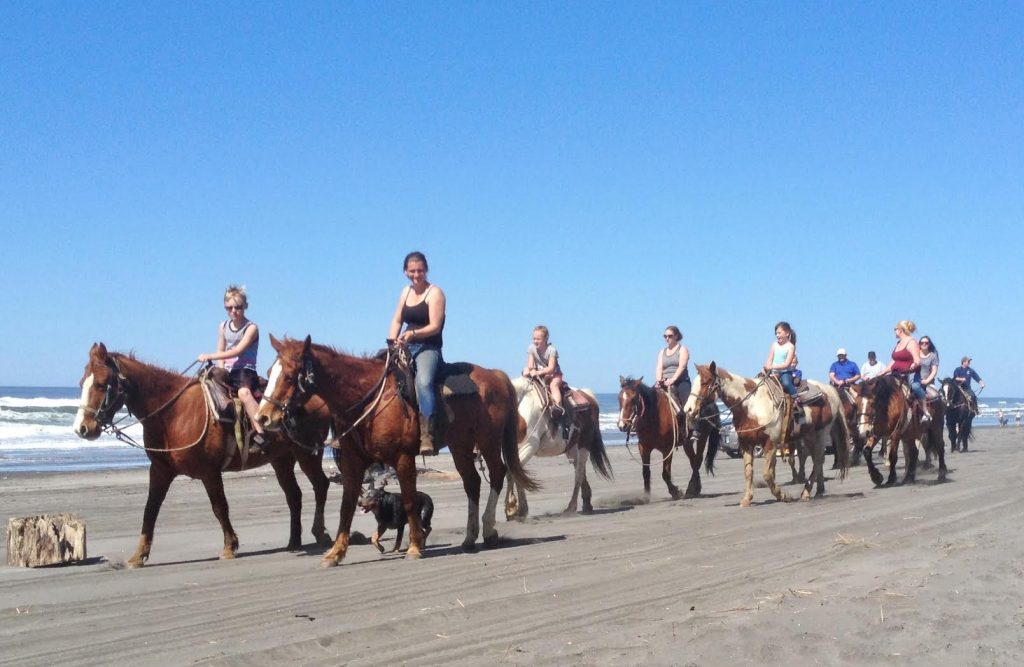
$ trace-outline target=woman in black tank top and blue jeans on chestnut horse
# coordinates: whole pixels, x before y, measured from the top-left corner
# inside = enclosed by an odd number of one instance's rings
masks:
[[[388,328],[388,340],[404,345],[416,362],[416,403],[420,410],[420,454],[437,453],[434,443],[436,410],[434,378],[444,362],[441,357],[444,330],[444,292],[427,280],[427,258],[422,252],[406,255],[402,270],[409,279],[398,295],[398,305]],[[402,331],[404,327],[404,331]]]

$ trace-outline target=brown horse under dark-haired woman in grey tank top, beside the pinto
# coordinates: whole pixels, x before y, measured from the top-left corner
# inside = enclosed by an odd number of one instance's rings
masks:
[[[673,416],[669,397],[665,391],[647,386],[643,383],[643,378],[634,380],[618,376],[618,429],[627,437],[631,432],[637,434],[644,497],[650,497],[650,454],[653,451],[662,454],[662,478],[674,500],[699,496],[700,460],[705,460],[705,471],[715,474],[715,455],[718,454],[721,442],[719,431],[722,422],[715,403],[706,406],[700,411],[700,419],[692,422],[696,423],[696,429],[694,437],[690,437],[686,427],[680,425]],[[690,483],[685,494],[680,493],[679,487],[672,483],[672,458],[676,452],[676,443],[683,446],[683,451],[690,460]]]

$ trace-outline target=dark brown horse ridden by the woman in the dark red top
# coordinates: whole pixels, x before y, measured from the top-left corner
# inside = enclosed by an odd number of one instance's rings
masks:
[[[921,416],[911,409],[904,387],[892,375],[882,375],[860,383],[857,404],[857,428],[864,437],[864,461],[867,472],[876,486],[891,487],[896,484],[896,460],[900,443],[906,470],[903,484],[914,482],[918,472],[918,440],[925,445],[925,451],[939,459],[939,482],[946,478],[945,447],[942,444],[941,401],[929,404],[931,420],[922,422]],[[885,480],[874,465],[871,449],[878,442],[889,444],[889,478]],[[883,485],[883,482],[885,484]]]

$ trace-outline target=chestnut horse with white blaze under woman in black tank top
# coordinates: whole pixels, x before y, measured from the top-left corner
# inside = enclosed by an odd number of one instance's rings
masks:
[[[278,360],[260,409],[259,423],[267,430],[281,427],[287,413],[314,393],[324,398],[341,433],[341,473],[344,494],[341,520],[334,546],[324,555],[325,567],[337,566],[348,550],[352,514],[358,501],[362,474],[372,462],[392,466],[398,475],[401,502],[409,517],[408,558],[419,558],[423,532],[416,512],[416,456],[419,453],[419,420],[416,408],[406,404],[388,362],[343,355],[324,345],[304,341],[278,340],[270,336]],[[483,510],[483,542],[498,543],[495,512],[505,482],[506,469],[516,484],[528,491],[539,488],[519,463],[516,447],[515,389],[501,371],[464,364],[476,391],[445,399],[454,416],[443,433],[455,467],[469,501],[463,549],[476,548],[480,532],[480,475],[473,467],[473,448],[486,462],[490,493]],[[503,459],[504,458],[504,462]],[[506,468],[507,466],[507,468]]]

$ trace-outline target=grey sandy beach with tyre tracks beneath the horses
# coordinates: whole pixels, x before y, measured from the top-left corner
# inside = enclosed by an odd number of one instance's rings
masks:
[[[123,560],[144,471],[7,475],[2,516],[79,513],[89,560],[0,569],[0,665],[1021,664],[1024,429],[976,435],[947,455],[946,484],[933,469],[874,489],[861,466],[811,502],[758,488],[749,509],[738,460],[723,455],[698,499],[671,500],[655,474],[644,504],[639,465],[616,447],[615,480],[591,477],[598,511],[562,516],[571,466],[535,459],[532,515],[502,515],[501,546],[476,553],[459,548],[461,485],[435,475],[420,485],[436,503],[423,559],[355,545],[331,570],[311,544],[284,550],[269,468],[227,480],[240,557],[216,558],[203,487],[182,478],[134,571]],[[685,459],[674,467],[685,483]],[[340,498],[332,487],[332,531]],[[369,534],[372,518],[353,528]]]

